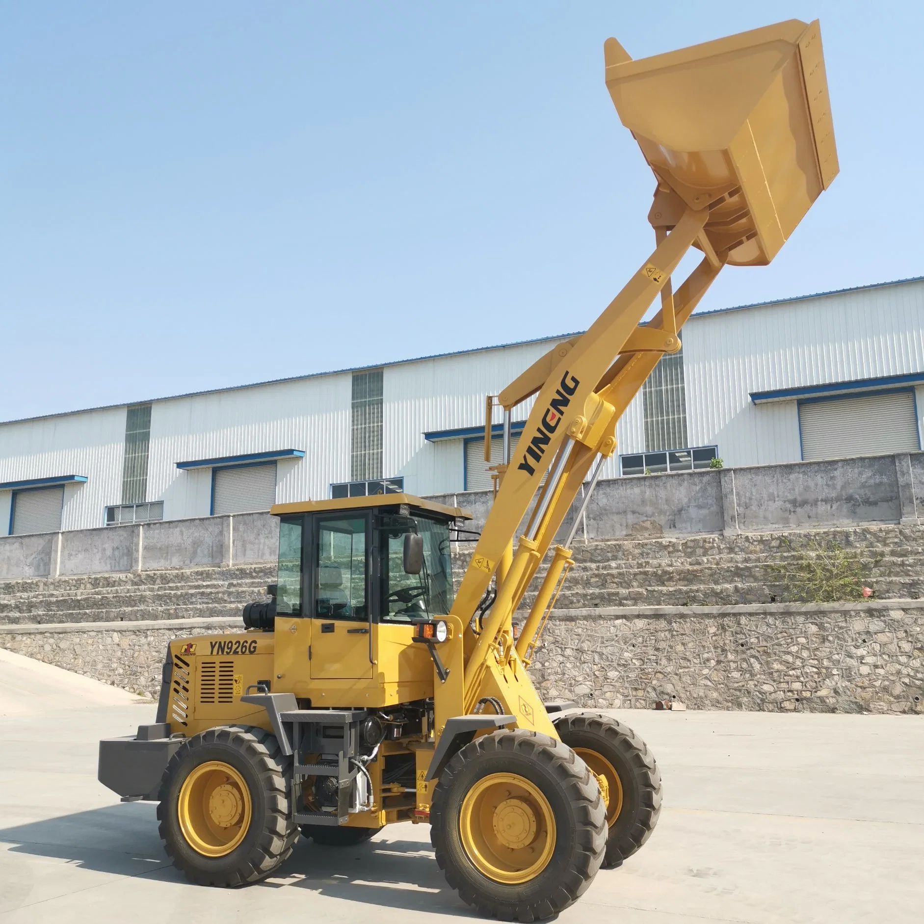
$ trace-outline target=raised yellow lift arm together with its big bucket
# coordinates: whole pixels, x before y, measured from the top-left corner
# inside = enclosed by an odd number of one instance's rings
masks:
[[[522,692],[531,685],[517,665],[529,663],[571,553],[556,548],[514,649],[512,614],[530,580],[594,460],[591,491],[613,455],[616,421],[658,359],[679,350],[678,331],[723,266],[772,261],[838,169],[817,21],[792,19],[642,61],[609,40],[604,58],[616,110],[657,179],[649,213],[657,246],[585,334],[554,346],[498,396],[505,419],[536,401],[517,456],[498,468],[494,505],[452,609],[467,626],[463,711],[485,689],[514,711],[516,687],[521,715],[539,730],[551,725],[533,720],[527,700],[535,693]],[[690,247],[704,259],[674,294],[671,277]],[[640,324],[659,293],[661,311]],[[479,629],[472,617],[492,577],[496,594]]]

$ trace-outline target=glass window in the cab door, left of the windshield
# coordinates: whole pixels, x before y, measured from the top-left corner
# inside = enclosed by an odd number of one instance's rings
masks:
[[[314,560],[318,619],[369,618],[366,606],[366,518],[322,520]]]

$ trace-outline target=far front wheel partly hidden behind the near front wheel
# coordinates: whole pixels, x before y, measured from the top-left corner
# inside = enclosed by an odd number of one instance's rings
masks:
[[[661,772],[654,756],[631,728],[600,712],[572,712],[554,725],[592,772],[610,777],[603,869],[621,866],[650,838],[661,814]],[[620,796],[621,805],[614,810]]]

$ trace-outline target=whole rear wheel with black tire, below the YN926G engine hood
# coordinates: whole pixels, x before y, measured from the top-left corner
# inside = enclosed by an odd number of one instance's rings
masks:
[[[157,819],[164,849],[197,885],[259,882],[292,853],[290,775],[275,737],[225,726],[188,739],[164,771]]]

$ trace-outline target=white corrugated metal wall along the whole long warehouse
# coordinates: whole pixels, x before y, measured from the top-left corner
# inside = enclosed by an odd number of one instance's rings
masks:
[[[726,465],[795,461],[796,402],[755,407],[748,393],[924,371],[924,281],[695,315],[682,338],[690,444],[718,444]],[[409,492],[461,492],[463,440],[433,444],[423,433],[481,426],[484,395],[556,342],[385,366],[383,476],[404,476]],[[277,500],[327,497],[332,481],[350,476],[351,379],[338,372],[153,402],[148,500],[163,499],[168,519],[208,516],[211,469],[176,462],[288,448],[306,456],[278,463]],[[528,412],[529,403],[514,416]],[[125,421],[116,407],[0,425],[0,482],[85,475],[86,484],[67,487],[63,527],[102,526],[105,506],[121,500]],[[645,449],[641,395],[617,438],[617,454]],[[603,474],[618,475],[616,457]],[[0,534],[8,502],[0,491]]]

